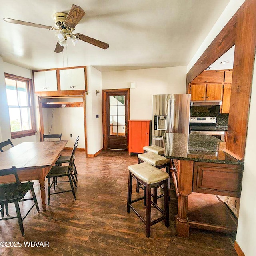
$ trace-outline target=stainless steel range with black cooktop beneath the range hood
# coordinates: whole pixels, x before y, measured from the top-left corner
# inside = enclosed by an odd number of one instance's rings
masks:
[[[214,116],[191,116],[189,118],[190,132],[193,134],[212,135],[220,140],[225,140],[225,128],[216,126]]]

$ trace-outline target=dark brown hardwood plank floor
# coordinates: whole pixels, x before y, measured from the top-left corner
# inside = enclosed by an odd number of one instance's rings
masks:
[[[70,151],[65,150],[65,154]],[[0,242],[22,242],[21,247],[0,246],[0,256],[6,255],[172,255],[172,256],[236,256],[230,236],[190,229],[190,238],[175,236],[177,199],[171,191],[170,227],[160,222],[151,228],[150,238],[145,236],[145,225],[131,211],[126,212],[128,165],[136,164],[136,156],[124,151],[104,151],[96,158],[85,158],[76,152],[78,188],[76,200],[72,192],[52,195],[46,212],[36,208],[24,220],[22,237],[18,221],[0,221]],[[46,184],[47,185],[47,184]],[[133,194],[136,193],[135,183]],[[59,183],[56,190],[66,190],[69,183]],[[34,190],[40,202],[40,187]],[[140,196],[142,191],[140,191]],[[28,193],[29,196],[29,193]],[[22,216],[32,201],[20,203]],[[159,205],[162,199],[159,199]],[[143,213],[142,201],[136,207]],[[10,204],[10,215],[15,208]],[[40,208],[41,209],[41,208]],[[152,209],[152,218],[158,212]],[[49,247],[25,247],[24,241],[49,242]]]

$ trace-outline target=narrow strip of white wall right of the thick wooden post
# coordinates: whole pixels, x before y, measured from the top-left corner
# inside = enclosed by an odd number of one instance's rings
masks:
[[[252,82],[248,134],[246,139],[246,152],[244,157],[244,176],[238,219],[236,241],[246,256],[256,255],[256,65]]]

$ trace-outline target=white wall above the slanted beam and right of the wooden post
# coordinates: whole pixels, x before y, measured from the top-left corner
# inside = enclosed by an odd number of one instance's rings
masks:
[[[244,0],[231,0],[209,35],[200,46],[195,56],[188,64],[189,71],[204,50],[222,30],[234,13],[239,9]],[[246,256],[256,255],[256,168],[255,168],[255,145],[256,145],[256,65],[254,64],[254,76],[252,83],[252,95],[250,101],[248,134],[246,139],[246,153],[244,176],[242,181],[242,192],[240,201],[240,211],[238,219],[238,230],[236,241]]]

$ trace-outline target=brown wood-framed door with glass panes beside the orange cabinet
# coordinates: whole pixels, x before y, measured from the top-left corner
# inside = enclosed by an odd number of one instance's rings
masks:
[[[130,89],[102,90],[103,148],[128,148]]]

